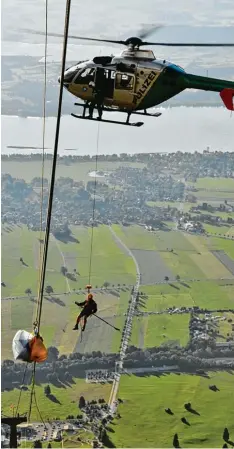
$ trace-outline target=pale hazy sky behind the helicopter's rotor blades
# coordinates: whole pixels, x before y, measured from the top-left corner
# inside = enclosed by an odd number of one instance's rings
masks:
[[[65,0],[49,0],[48,30],[63,33]],[[233,41],[234,39],[234,2],[233,0],[73,0],[71,2],[71,16],[69,32],[81,36],[123,39],[137,34],[142,26],[160,24],[163,28],[151,39],[157,41]],[[197,28],[199,27],[199,28]],[[11,51],[25,54],[25,52],[39,51],[35,44],[43,44],[42,36],[30,35],[25,28],[44,31],[45,29],[45,0],[3,0],[2,1],[2,52]],[[28,43],[31,46],[22,45]],[[79,45],[80,43],[80,45]],[[103,47],[96,44],[84,45],[82,42],[71,41],[68,48],[68,58],[76,51],[79,57],[93,56],[93,52],[119,53],[116,47]],[[50,53],[61,57],[62,40],[49,38]],[[56,51],[56,47],[57,51]],[[75,49],[74,49],[75,47]],[[43,45],[40,49],[43,54]],[[172,48],[157,49],[159,57],[179,58],[181,63],[208,55],[212,60],[216,56],[221,60],[234,60],[233,50],[184,50]],[[230,54],[231,52],[231,54]],[[57,57],[58,57],[57,54]],[[77,57],[75,58],[77,59]],[[223,62],[221,61],[221,62]]]

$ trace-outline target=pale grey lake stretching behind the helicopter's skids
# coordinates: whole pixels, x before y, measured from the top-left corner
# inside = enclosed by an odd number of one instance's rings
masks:
[[[199,151],[234,151],[234,116],[223,107],[158,108],[158,118],[132,116],[145,124],[141,128],[78,120],[62,116],[59,139],[60,155],[94,155]],[[106,117],[106,115],[103,115]],[[125,114],[111,113],[112,119],[123,120]],[[40,150],[13,149],[7,146],[42,147],[40,117],[2,116],[2,154],[34,153]],[[54,146],[56,118],[46,119],[45,147]],[[98,139],[99,133],[99,139]],[[67,151],[69,149],[70,151]]]

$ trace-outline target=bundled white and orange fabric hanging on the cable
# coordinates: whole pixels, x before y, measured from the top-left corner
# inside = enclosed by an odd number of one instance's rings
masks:
[[[42,363],[47,359],[47,349],[40,336],[34,336],[25,330],[19,330],[12,342],[12,351],[15,360],[23,362]]]

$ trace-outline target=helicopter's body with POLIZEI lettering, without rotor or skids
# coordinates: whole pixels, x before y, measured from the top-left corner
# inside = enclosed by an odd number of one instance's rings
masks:
[[[119,56],[82,61],[64,74],[64,87],[84,102],[95,101],[97,69],[104,70],[103,105],[126,111],[146,110],[187,88],[221,92],[234,82],[190,75],[176,64],[155,58],[151,50],[127,49]],[[91,83],[91,84],[90,84]]]

